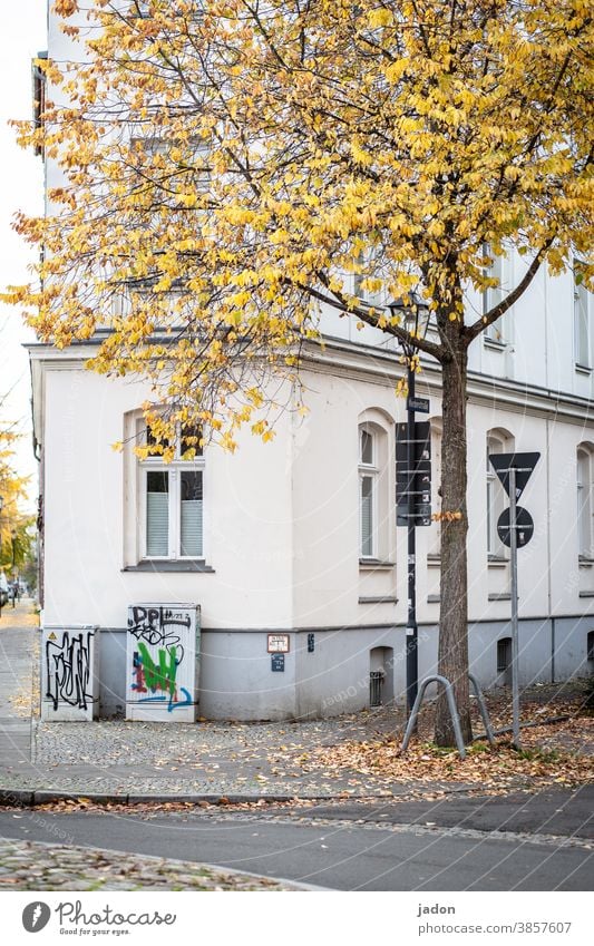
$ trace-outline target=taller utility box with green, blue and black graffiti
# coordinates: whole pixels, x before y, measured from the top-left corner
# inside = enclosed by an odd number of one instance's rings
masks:
[[[196,604],[133,604],[126,633],[126,719],[194,723],[201,625]]]

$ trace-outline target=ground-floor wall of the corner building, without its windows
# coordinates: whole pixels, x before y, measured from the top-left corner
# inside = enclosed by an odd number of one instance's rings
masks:
[[[213,570],[203,574],[125,570],[126,531],[138,513],[126,505],[136,460],[111,445],[147,396],[144,386],[87,372],[72,353],[40,348],[32,357],[45,404],[43,621],[101,627],[104,713],[124,703],[127,608],[143,601],[201,605],[199,712],[206,718],[356,711],[369,705],[378,654],[390,655],[384,692],[403,698],[406,529],[393,521],[391,460],[382,481],[386,560],[380,567],[359,560],[358,427],[362,420],[382,425],[393,457],[393,423],[405,419],[393,393],[400,370],[393,357],[370,359],[352,345],[328,350],[303,372],[306,418],[285,412],[269,445],[245,433],[235,455],[206,449],[205,548]],[[430,369],[419,382],[432,420],[440,415],[436,382]],[[485,443],[493,428],[507,431],[516,450],[542,455],[520,499],[535,521],[533,540],[518,553],[523,685],[586,673],[594,598],[584,583],[593,569],[577,564],[575,452],[593,436],[592,425],[568,399],[520,397],[517,388],[494,390],[477,378],[468,402],[473,669],[483,685],[500,684],[497,640],[509,634],[509,566],[489,566],[486,555]],[[421,676],[437,662],[439,563],[427,565],[436,529],[417,530]],[[284,673],[272,672],[266,648],[267,632],[280,630],[291,637]]]

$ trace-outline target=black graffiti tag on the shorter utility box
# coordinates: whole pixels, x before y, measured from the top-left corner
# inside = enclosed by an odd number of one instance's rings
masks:
[[[86,710],[88,701],[92,700],[89,692],[92,634],[92,631],[62,631],[60,643],[46,641],[46,696],[52,701],[55,710],[60,702]]]

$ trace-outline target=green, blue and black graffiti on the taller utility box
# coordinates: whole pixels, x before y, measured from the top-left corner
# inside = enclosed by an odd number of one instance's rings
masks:
[[[175,605],[133,605],[129,608],[128,633],[135,638],[130,695],[135,702],[165,705],[169,713],[192,705],[192,693],[182,685],[179,677],[194,627],[193,614]]]

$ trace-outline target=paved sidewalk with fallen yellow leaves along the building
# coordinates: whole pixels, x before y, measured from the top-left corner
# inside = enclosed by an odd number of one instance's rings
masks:
[[[475,761],[469,760],[471,765],[452,768],[457,757],[451,763],[446,760],[444,764],[444,759],[436,763],[435,758],[422,754],[421,747],[398,760],[395,767],[405,723],[403,711],[395,708],[314,722],[187,725],[125,720],[31,721],[39,699],[39,682],[33,671],[39,660],[39,632],[31,626],[30,609],[30,603],[21,603],[14,611],[4,608],[0,623],[0,796],[4,803],[39,804],[57,796],[123,803],[155,799],[165,802],[337,797],[413,799],[486,787],[479,769],[489,764],[485,752],[480,758],[477,753]],[[538,699],[546,701],[548,715],[552,708],[556,712],[557,705],[561,711],[566,710],[566,695],[563,686],[552,694],[542,687],[529,711],[539,712]],[[499,704],[507,702],[507,696],[490,698],[496,715]],[[421,719],[421,735],[427,740],[430,714],[427,710]],[[534,744],[536,731],[525,732],[530,733],[527,742]],[[584,781],[587,773],[584,777],[583,753],[594,751],[594,720],[567,723],[563,733],[548,728],[544,738],[548,750],[567,748],[577,753],[575,758],[582,762],[580,771],[575,770],[576,779]],[[389,764],[384,765],[383,759]],[[519,781],[506,774],[502,781],[504,788],[508,784],[512,790],[528,784],[530,772],[538,771],[530,765],[524,764]],[[458,770],[461,771],[457,779]],[[571,779],[562,777],[556,781]]]

